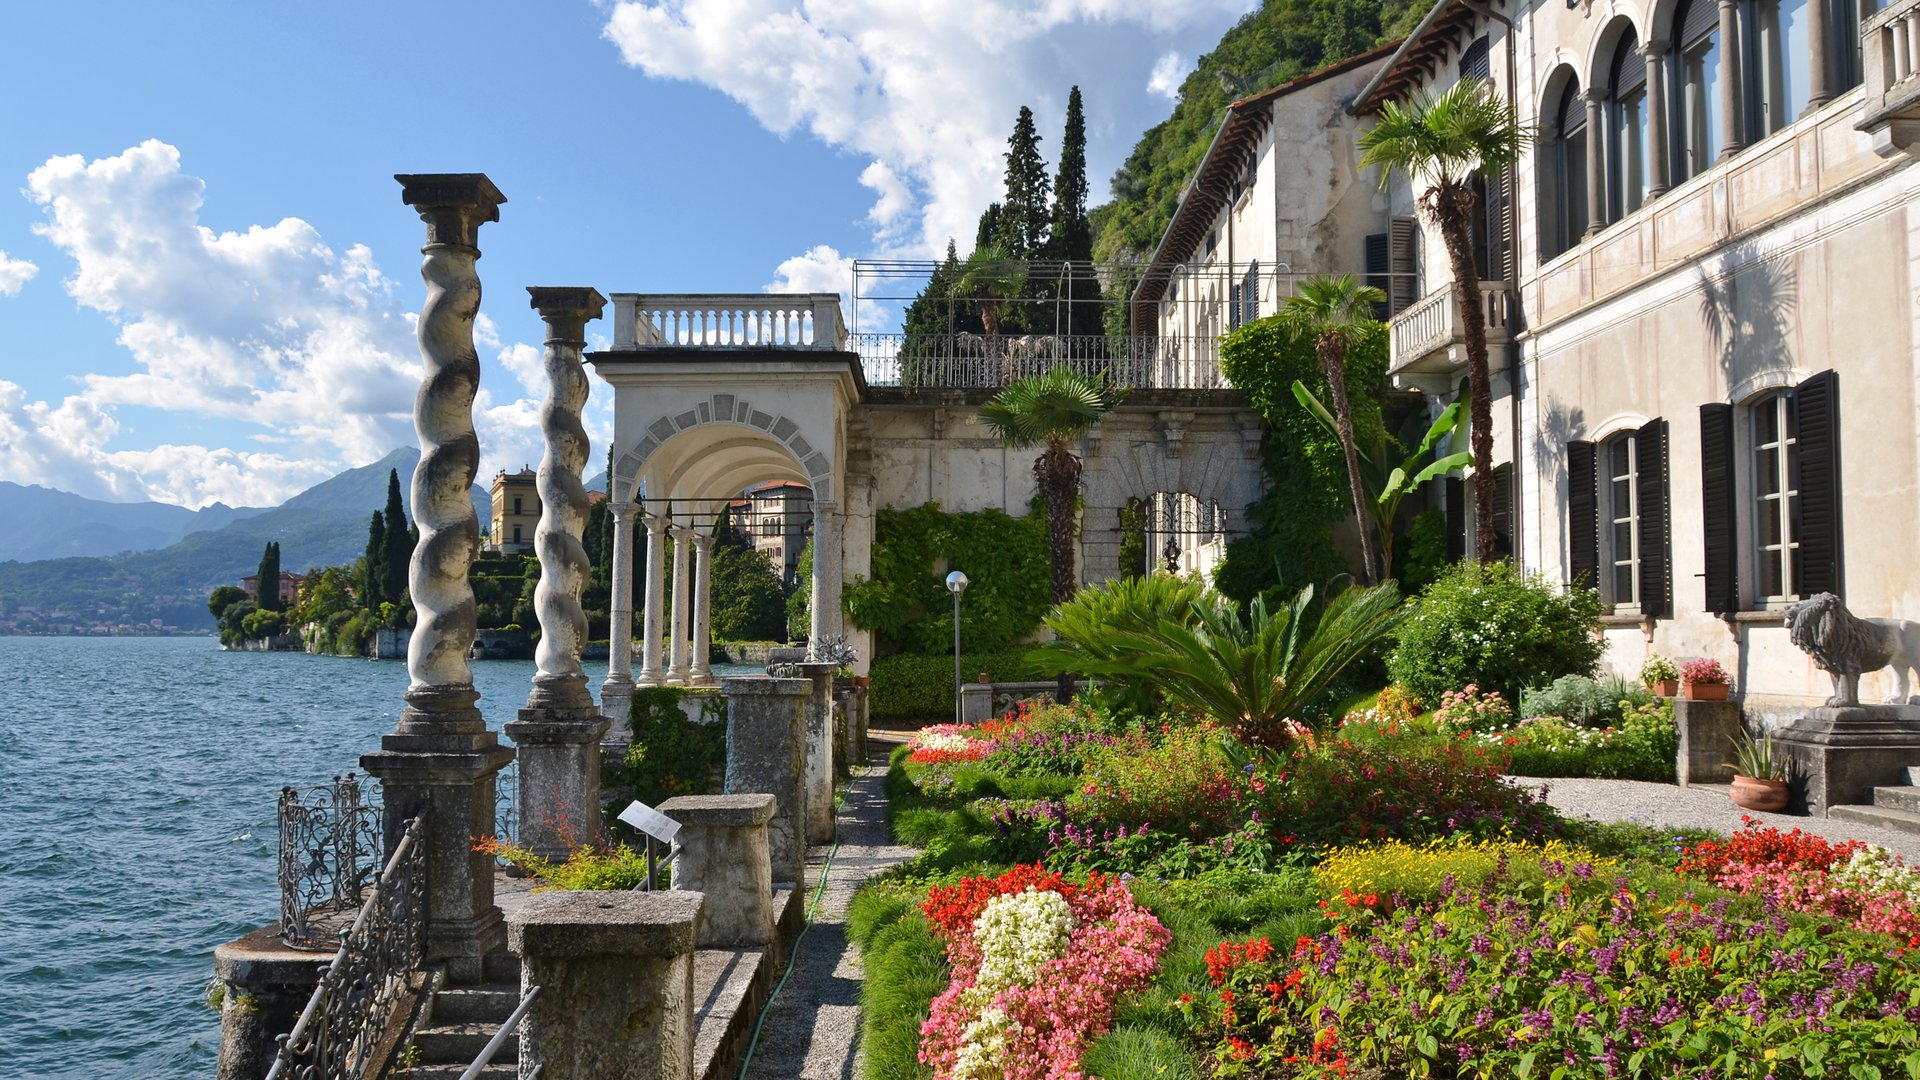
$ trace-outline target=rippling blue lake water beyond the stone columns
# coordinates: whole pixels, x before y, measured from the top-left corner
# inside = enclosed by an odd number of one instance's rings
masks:
[[[488,726],[532,675],[474,663]],[[278,919],[275,798],[359,769],[405,663],[0,638],[0,1076],[211,1078],[213,945]]]

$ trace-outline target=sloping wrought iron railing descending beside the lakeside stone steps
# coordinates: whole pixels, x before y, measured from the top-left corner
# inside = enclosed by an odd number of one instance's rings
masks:
[[[422,834],[424,819],[407,821],[267,1080],[363,1080],[380,1068],[382,1036],[426,955]]]

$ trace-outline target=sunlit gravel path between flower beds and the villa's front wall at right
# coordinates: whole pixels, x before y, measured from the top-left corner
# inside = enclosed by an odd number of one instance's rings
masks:
[[[1548,803],[1569,817],[1736,832],[1740,830],[1740,815],[1751,815],[1782,830],[1799,828],[1801,832],[1812,832],[1828,840],[1866,840],[1905,857],[1908,863],[1920,863],[1920,836],[1912,832],[1893,832],[1889,828],[1824,817],[1743,811],[1728,798],[1726,784],[1680,788],[1676,784],[1649,784],[1645,780],[1578,780],[1567,776],[1553,780],[1509,776],[1507,782],[1523,788],[1544,784],[1548,788]]]

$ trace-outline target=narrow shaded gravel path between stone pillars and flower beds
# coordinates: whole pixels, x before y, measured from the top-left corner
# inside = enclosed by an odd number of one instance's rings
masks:
[[[877,742],[877,740],[876,740]],[[860,951],[847,940],[847,901],[868,876],[912,859],[887,830],[887,757],[852,778],[841,801],[839,851],[806,932],[793,949],[793,970],[768,1007],[749,1080],[852,1080],[860,1053]],[[829,847],[806,855],[808,888],[820,882]],[[812,907],[814,897],[806,897]]]

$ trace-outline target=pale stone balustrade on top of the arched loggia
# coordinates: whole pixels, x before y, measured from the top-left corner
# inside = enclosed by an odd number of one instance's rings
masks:
[[[833,292],[612,294],[612,348],[845,350]]]

